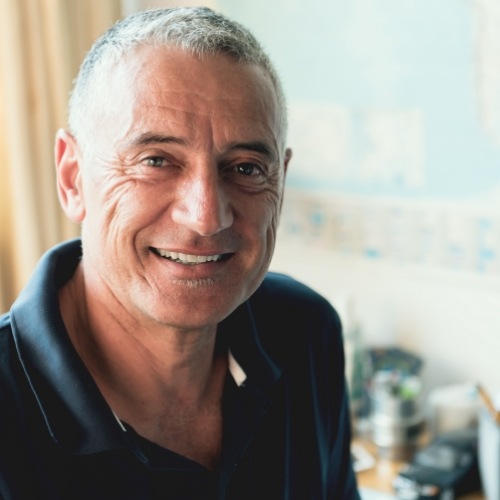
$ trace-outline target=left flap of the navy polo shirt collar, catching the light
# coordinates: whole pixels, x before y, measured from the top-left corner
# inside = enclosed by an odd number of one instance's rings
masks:
[[[48,430],[72,453],[128,446],[104,397],[71,343],[58,290],[80,260],[79,240],[47,252],[11,309],[19,359]]]

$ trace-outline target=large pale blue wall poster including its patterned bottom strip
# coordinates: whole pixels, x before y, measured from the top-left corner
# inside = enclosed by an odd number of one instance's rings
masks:
[[[283,231],[500,274],[497,0],[217,0],[264,42],[294,151]]]

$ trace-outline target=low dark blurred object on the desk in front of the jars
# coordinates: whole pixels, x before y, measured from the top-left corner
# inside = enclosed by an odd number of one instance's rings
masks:
[[[480,488],[477,431],[439,436],[393,482],[401,500],[452,500]]]

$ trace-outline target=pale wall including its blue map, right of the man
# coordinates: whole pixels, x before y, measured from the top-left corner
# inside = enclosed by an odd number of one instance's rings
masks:
[[[207,5],[254,31],[289,98],[272,268],[346,323],[352,303],[367,345],[421,354],[428,388],[500,389],[497,0]]]

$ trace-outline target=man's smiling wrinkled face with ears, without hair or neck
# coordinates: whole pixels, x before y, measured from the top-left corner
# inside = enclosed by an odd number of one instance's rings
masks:
[[[85,154],[68,133],[56,146],[86,287],[129,330],[213,330],[275,245],[290,152],[271,81],[227,56],[147,46],[104,81]],[[187,265],[165,251],[223,258]]]

